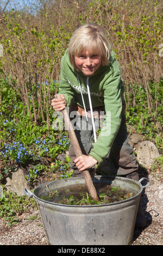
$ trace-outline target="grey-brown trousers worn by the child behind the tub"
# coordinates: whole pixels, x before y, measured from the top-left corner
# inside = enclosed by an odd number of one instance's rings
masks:
[[[78,117],[76,120],[76,129],[74,129],[74,131],[76,133],[82,153],[84,155],[88,155],[93,148],[91,119],[89,118],[88,122],[86,122],[84,117]],[[120,175],[137,180],[139,179],[137,178],[139,164],[133,155],[133,147],[128,144],[128,140],[129,137],[126,126],[126,117],[125,115],[122,115],[120,129],[114,143],[112,144],[108,157],[106,157],[101,166],[105,169],[107,175]],[[79,174],[82,175],[82,173],[76,167],[76,164],[73,162],[74,159],[76,159],[76,154],[72,144],[70,144],[69,156],[72,160],[70,162],[70,167],[74,171],[72,176],[78,176]],[[91,175],[95,174],[95,168],[91,168],[89,171]]]

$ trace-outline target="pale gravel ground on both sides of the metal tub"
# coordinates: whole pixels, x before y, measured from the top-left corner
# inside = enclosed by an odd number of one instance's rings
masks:
[[[157,175],[157,174],[156,174]],[[147,226],[135,229],[131,245],[163,245],[163,178],[148,175],[151,185],[142,193],[142,205]],[[10,228],[0,220],[0,245],[48,245],[39,210],[31,209],[20,218],[20,223]]]

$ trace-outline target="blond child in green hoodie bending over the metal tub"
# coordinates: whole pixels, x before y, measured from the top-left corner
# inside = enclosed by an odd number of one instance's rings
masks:
[[[76,158],[70,145],[73,176],[85,169],[95,174],[95,164],[108,157],[112,174],[139,180],[139,165],[128,144],[123,93],[120,65],[104,28],[94,23],[79,27],[61,60],[59,94],[62,100],[52,100],[55,111],[70,107],[72,120],[76,113],[74,130],[83,155]],[[104,113],[104,124],[96,138],[94,120],[96,114],[101,113]],[[141,226],[145,224],[141,209]]]

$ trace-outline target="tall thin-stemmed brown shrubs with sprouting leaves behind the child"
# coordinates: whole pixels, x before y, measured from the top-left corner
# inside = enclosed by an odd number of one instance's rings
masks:
[[[128,106],[135,104],[137,84],[146,90],[149,113],[156,115],[162,76],[160,2],[46,1],[35,15],[11,11],[2,15],[0,22],[0,42],[5,49],[0,59],[1,74],[20,94],[32,120],[37,121],[41,114],[41,119],[49,123],[51,86],[60,79],[61,57],[74,29],[89,22],[101,24],[108,32],[121,65]],[[149,81],[155,84],[154,96]]]

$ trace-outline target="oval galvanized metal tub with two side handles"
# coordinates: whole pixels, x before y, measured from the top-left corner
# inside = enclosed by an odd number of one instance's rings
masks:
[[[136,196],[104,205],[65,205],[48,202],[40,197],[58,188],[85,184],[83,177],[55,180],[42,184],[30,192],[40,210],[49,245],[129,245],[133,239],[137,209],[143,188],[139,181],[110,176],[95,176],[93,183],[108,182],[112,186],[133,190]],[[48,188],[47,188],[47,186]]]

